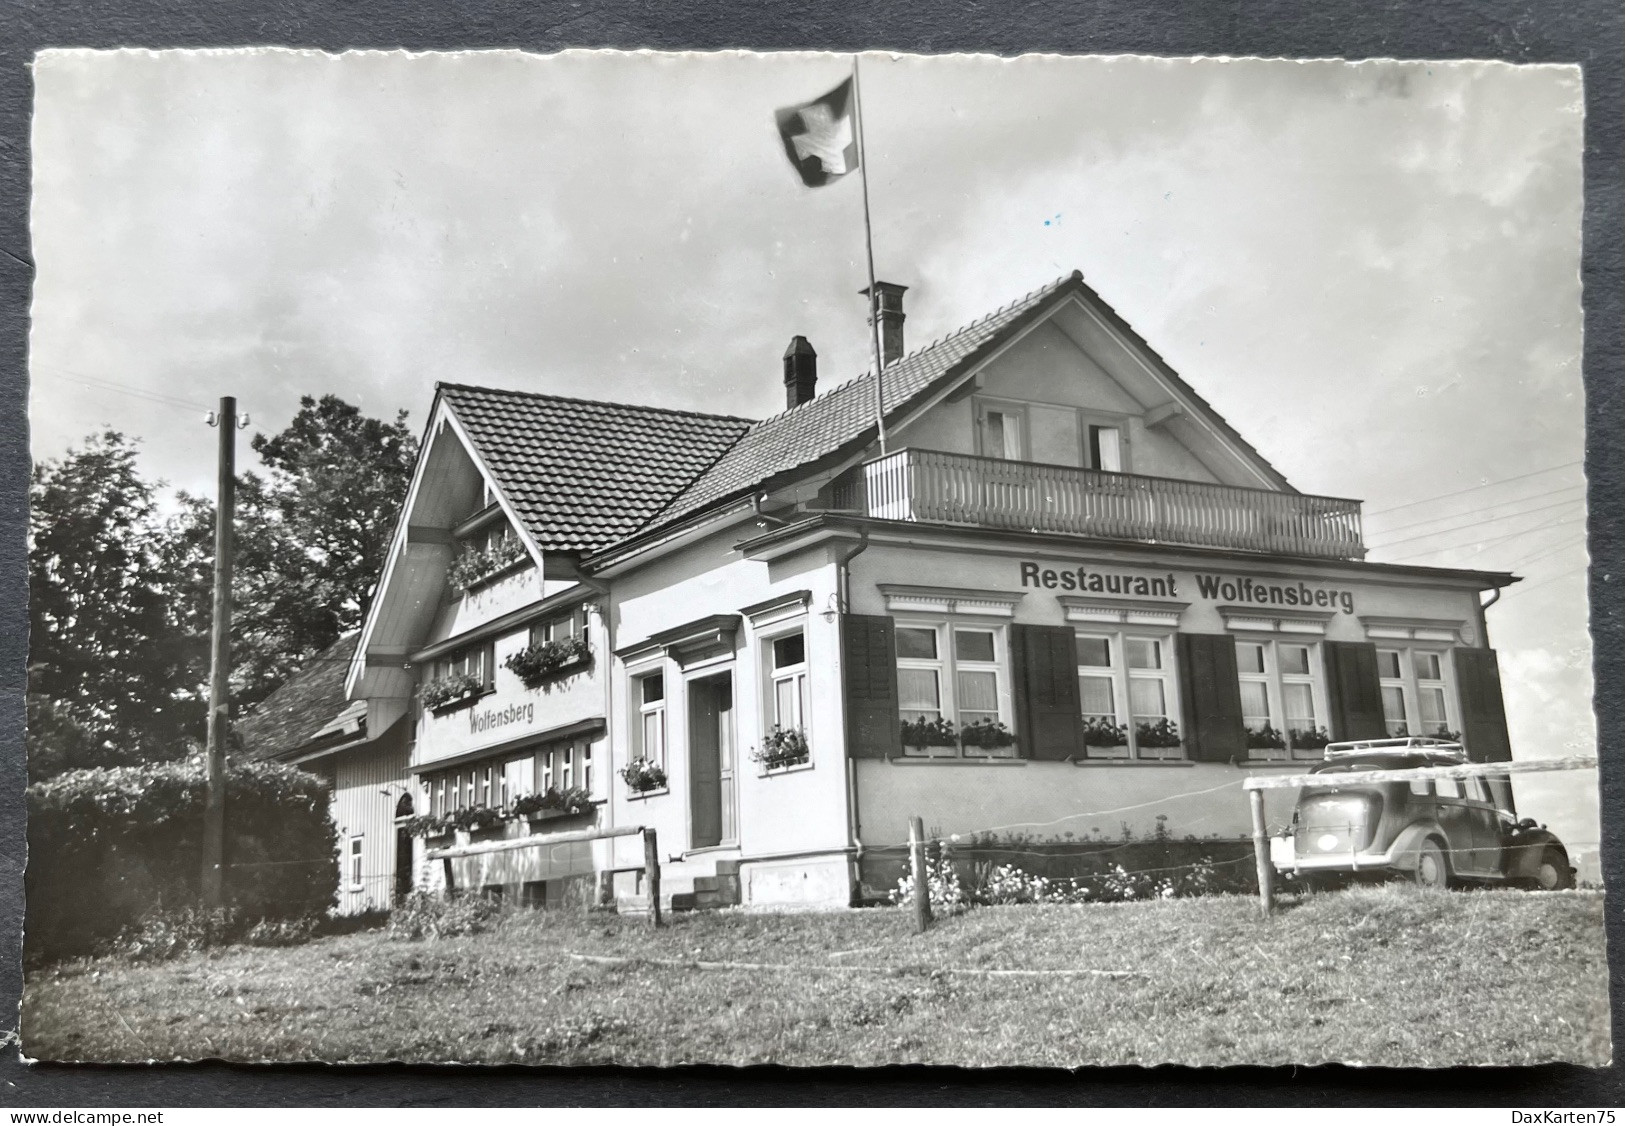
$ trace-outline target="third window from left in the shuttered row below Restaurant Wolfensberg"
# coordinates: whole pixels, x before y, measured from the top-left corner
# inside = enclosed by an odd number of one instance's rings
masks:
[[[1318,759],[1329,741],[1320,647],[1238,640],[1235,663],[1248,757]]]

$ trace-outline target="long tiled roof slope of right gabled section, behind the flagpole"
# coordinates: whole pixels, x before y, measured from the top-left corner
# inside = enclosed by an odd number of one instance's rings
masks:
[[[1056,278],[1034,289],[1020,301],[973,320],[942,340],[904,356],[886,369],[886,414],[892,414],[936,383],[964,361],[991,351],[1003,343],[1008,330],[1019,328],[1025,314],[1034,312],[1069,284],[1082,284],[1082,273]],[[866,437],[874,426],[874,375],[860,375],[782,414],[762,419],[717,458],[697,481],[660,512],[650,526],[681,520],[726,496],[756,487],[798,466],[817,461],[855,439]]]

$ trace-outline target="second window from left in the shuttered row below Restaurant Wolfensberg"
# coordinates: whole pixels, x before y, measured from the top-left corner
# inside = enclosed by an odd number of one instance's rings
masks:
[[[1185,756],[1173,700],[1173,652],[1167,635],[1077,635],[1077,697],[1084,754],[1090,759]]]

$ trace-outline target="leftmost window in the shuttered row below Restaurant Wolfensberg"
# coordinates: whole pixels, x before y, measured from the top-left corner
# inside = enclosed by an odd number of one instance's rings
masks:
[[[897,695],[904,725],[938,725],[934,743],[912,746],[904,739],[904,754],[956,756],[960,751],[973,757],[1009,757],[1016,752],[1014,739],[993,746],[1008,726],[1009,687],[1004,671],[1004,634],[988,626],[957,626],[949,622],[897,626]],[[965,728],[977,726],[991,738],[962,746],[959,738]],[[947,730],[954,731],[949,746]],[[916,736],[921,738],[921,736]]]

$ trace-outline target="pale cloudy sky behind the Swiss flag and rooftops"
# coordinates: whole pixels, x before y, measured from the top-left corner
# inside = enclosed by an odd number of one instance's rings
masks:
[[[436,380],[782,408],[863,370],[858,185],[772,110],[812,54],[57,52],[34,67],[32,448],[213,487],[202,411]],[[1372,557],[1513,569],[1521,757],[1589,751],[1581,86],[1500,63],[866,55],[874,253],[925,343],[1074,268]],[[1581,793],[1581,790],[1584,790]],[[1594,788],[1526,808],[1594,842]]]

